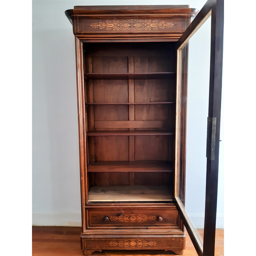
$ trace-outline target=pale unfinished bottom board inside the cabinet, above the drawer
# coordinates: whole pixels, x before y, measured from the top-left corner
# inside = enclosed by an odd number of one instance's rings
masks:
[[[166,202],[172,201],[171,186],[109,185],[92,186],[89,202]]]

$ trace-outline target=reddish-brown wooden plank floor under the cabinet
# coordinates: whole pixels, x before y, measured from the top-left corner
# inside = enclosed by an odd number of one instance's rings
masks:
[[[80,233],[79,227],[32,227],[32,255],[44,256],[75,256],[83,255],[80,249]],[[186,233],[186,249],[183,251],[183,256],[196,256],[196,250]],[[216,230],[215,255],[224,255],[224,230]],[[103,250],[102,252],[93,252],[92,256],[157,256],[157,255],[175,255],[172,252],[164,252],[159,250],[124,250],[110,251]]]

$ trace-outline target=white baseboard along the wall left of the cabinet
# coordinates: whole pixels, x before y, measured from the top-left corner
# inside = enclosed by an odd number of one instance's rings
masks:
[[[32,212],[32,226],[82,227],[81,212]]]

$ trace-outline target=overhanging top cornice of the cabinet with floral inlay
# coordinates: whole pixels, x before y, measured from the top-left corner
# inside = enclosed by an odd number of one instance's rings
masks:
[[[188,5],[156,6],[75,6],[66,16],[74,35],[89,34],[179,34],[197,13]],[[173,37],[173,36],[172,36]]]

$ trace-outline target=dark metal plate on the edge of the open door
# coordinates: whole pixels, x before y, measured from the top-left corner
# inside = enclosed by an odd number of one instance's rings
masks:
[[[206,157],[215,160],[216,117],[207,117]]]

